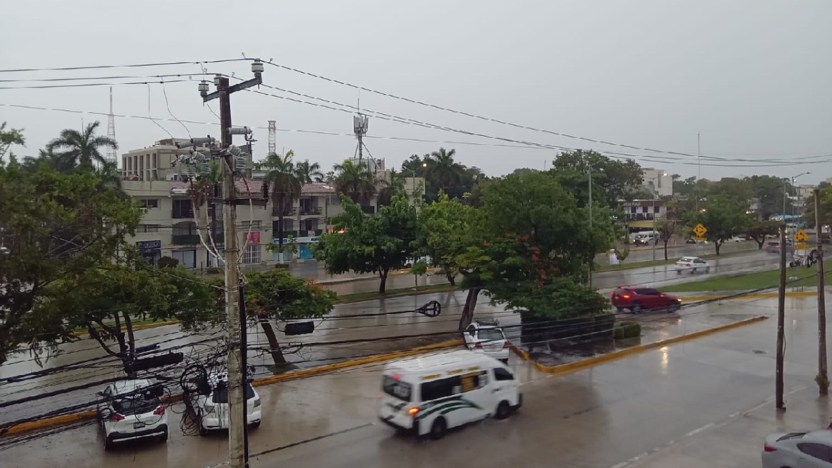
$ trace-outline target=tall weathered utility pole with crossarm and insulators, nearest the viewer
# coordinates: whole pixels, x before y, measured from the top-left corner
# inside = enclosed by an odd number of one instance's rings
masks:
[[[214,84],[216,91],[208,93],[208,83],[200,83],[200,94],[203,102],[212,99],[220,100],[220,136],[222,143],[222,161],[220,162],[222,177],[223,205],[222,217],[225,232],[225,326],[228,328],[228,356],[225,365],[228,371],[228,463],[231,468],[247,468],[248,448],[246,446],[245,426],[245,387],[243,384],[245,350],[245,310],[240,307],[238,297],[240,283],[240,250],[237,242],[237,191],[234,184],[234,173],[237,167],[232,147],[231,127],[231,93],[248,87],[260,85],[263,82],[263,62],[259,59],[251,62],[251,72],[255,77],[245,82],[230,86],[227,77],[216,75]],[[247,130],[247,129],[246,129]],[[238,286],[238,287],[235,287]]]

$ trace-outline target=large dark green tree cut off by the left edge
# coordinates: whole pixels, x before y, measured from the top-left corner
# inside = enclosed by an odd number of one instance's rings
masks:
[[[142,210],[102,190],[93,172],[64,174],[48,164],[0,167],[0,362],[32,340],[32,307],[48,301],[50,286],[111,263],[132,235]]]

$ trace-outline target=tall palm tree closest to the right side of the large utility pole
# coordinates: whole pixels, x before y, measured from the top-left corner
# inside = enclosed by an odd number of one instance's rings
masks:
[[[300,196],[300,189],[304,186],[298,176],[297,167],[292,162],[295,152],[289,150],[285,154],[270,152],[265,160],[258,163],[258,167],[268,170],[265,174],[265,182],[270,185],[272,206],[277,211],[277,232],[278,252],[283,258],[283,217],[288,208]]]

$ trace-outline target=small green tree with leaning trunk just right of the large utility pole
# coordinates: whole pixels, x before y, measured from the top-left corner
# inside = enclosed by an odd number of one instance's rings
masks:
[[[253,271],[245,277],[246,311],[263,327],[275,365],[285,365],[285,356],[270,321],[326,316],[333,309],[335,293],[312,281],[292,276],[285,268]]]

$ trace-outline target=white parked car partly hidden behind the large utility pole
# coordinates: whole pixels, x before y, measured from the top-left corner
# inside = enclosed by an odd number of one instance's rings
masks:
[[[187,393],[188,410],[194,413],[196,421],[200,423],[200,433],[228,429],[228,374],[213,372],[208,374],[210,393],[202,395],[199,392]],[[260,427],[262,411],[260,411],[260,395],[251,384],[245,384],[245,413],[252,428]]]

